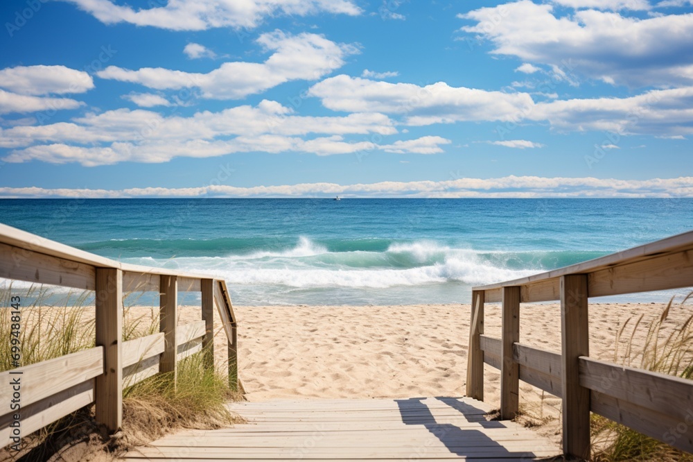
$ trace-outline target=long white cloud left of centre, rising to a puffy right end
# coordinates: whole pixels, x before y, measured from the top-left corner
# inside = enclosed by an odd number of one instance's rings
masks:
[[[109,66],[100,78],[139,83],[154,89],[199,88],[204,98],[241,99],[264,92],[290,80],[315,80],[344,65],[344,58],[358,50],[336,44],[322,35],[281,31],[264,33],[257,42],[274,51],[263,63],[225,62],[208,74],[144,67],[137,71]]]

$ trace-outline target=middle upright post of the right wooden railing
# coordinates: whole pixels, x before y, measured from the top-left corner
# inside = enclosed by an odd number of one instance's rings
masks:
[[[500,418],[515,418],[520,409],[520,365],[513,345],[520,341],[520,287],[503,287],[500,355]]]

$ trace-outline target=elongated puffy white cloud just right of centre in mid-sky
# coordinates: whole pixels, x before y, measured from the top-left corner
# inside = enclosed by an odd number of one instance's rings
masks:
[[[346,75],[327,78],[308,91],[331,110],[405,114],[410,125],[455,121],[512,120],[534,105],[526,93],[487,92],[450,87],[444,82],[420,87]]]

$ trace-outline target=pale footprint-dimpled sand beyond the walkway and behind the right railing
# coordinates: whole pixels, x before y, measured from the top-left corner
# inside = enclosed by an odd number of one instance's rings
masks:
[[[590,304],[590,356],[613,361],[628,318],[644,324],[661,304]],[[277,398],[462,396],[466,384],[469,305],[383,307],[234,307],[239,322],[240,377],[250,401]],[[669,326],[690,312],[672,308]],[[560,351],[559,305],[523,305],[520,341]],[[631,329],[626,329],[630,337]],[[486,334],[500,337],[500,305],[486,305]],[[622,348],[623,350],[623,348]],[[485,366],[486,402],[500,404],[500,375]],[[560,439],[560,400],[520,382],[520,405]]]

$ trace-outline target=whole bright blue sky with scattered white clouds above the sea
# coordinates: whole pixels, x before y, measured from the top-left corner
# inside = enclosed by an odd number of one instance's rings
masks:
[[[0,4],[0,196],[693,196],[690,1]]]

